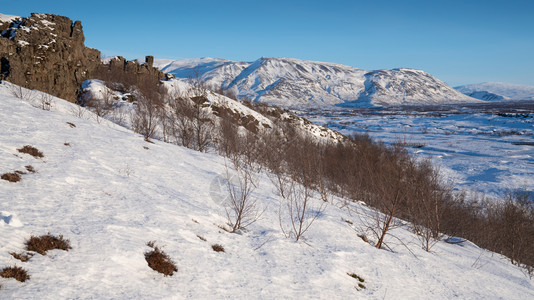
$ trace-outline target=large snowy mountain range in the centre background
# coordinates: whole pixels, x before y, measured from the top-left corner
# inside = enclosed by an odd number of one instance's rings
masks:
[[[334,63],[265,57],[252,63],[213,58],[156,60],[154,66],[183,79],[198,73],[214,90],[279,106],[477,101],[414,69],[366,71]]]

